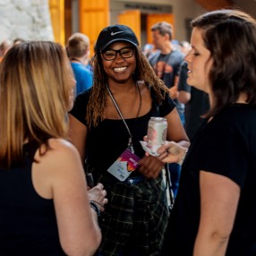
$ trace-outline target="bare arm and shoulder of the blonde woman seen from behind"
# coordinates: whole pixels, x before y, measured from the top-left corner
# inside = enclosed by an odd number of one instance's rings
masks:
[[[93,255],[101,240],[98,218],[90,208],[87,184],[78,151],[64,140],[50,140],[51,149],[37,156],[35,188],[52,198],[60,236],[67,255]],[[38,176],[38,174],[41,174]],[[98,201],[105,204],[106,191],[98,186]]]

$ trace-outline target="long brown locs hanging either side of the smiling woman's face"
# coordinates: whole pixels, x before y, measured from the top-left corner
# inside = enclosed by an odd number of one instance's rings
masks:
[[[133,73],[133,81],[145,81],[154,90],[158,104],[161,104],[170,90],[164,81],[158,78],[157,74],[149,64],[148,59],[143,55],[141,47],[135,47],[136,68]],[[93,86],[90,91],[86,120],[89,128],[98,126],[98,122],[105,119],[104,110],[107,106],[107,74],[104,71],[100,52],[94,55],[93,60]]]

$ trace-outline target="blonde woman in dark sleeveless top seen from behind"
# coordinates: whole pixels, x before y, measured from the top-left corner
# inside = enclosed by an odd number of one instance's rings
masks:
[[[66,141],[73,87],[69,60],[55,43],[21,43],[4,56],[1,253],[92,255],[98,248],[97,212],[107,203],[106,191],[98,184],[90,203],[80,156]]]

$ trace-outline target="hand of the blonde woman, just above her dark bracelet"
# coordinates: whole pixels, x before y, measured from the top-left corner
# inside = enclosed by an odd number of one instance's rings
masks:
[[[98,183],[96,186],[88,190],[88,196],[90,201],[97,203],[100,211],[104,211],[105,205],[107,204],[108,200],[106,198],[107,191],[104,189],[102,183]]]

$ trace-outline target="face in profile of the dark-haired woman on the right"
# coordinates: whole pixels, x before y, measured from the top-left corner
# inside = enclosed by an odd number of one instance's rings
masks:
[[[202,39],[203,30],[192,30],[192,50],[185,56],[188,63],[187,83],[199,90],[210,93],[209,70],[212,65],[209,50],[204,46]]]

